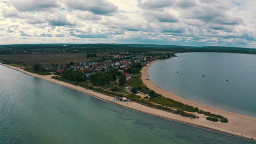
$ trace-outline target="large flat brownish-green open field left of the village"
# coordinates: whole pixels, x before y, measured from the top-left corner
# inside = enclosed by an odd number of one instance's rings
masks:
[[[8,60],[13,63],[22,62],[31,67],[34,63],[40,63],[44,66],[54,64],[66,64],[69,62],[88,62],[94,61],[96,58],[87,58],[87,53],[40,53],[40,54],[15,54],[15,55],[0,55],[0,60]]]

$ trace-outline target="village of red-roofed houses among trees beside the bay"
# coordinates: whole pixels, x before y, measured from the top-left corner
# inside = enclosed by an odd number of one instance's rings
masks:
[[[141,65],[146,65],[149,62],[158,60],[158,59],[166,59],[174,56],[173,54],[166,53],[132,53],[126,52],[119,54],[111,54],[110,52],[104,53],[104,56],[98,57],[98,61],[92,62],[78,62],[78,63],[67,63],[63,65],[59,65],[57,70],[55,71],[56,75],[61,75],[63,70],[79,70],[83,73],[85,78],[88,78],[91,74],[95,74],[98,72],[107,72],[110,69],[118,69],[121,74],[125,76],[130,76],[131,73],[139,73],[136,69],[132,69],[131,65],[133,63],[140,63]],[[44,69],[50,70],[53,67],[45,67]],[[117,76],[119,79],[120,75]]]

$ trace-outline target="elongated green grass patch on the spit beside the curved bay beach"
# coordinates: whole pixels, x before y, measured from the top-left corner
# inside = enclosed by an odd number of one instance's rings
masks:
[[[173,99],[165,98],[165,97],[153,97],[149,99],[150,101],[153,101],[154,103],[161,104],[161,105],[166,105],[170,107],[176,107],[177,109],[182,109],[184,111],[189,111],[189,112],[198,112],[197,107],[193,107],[190,105],[185,105],[179,101],[175,101]]]

